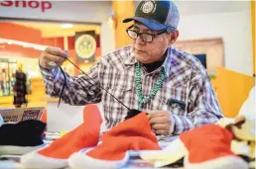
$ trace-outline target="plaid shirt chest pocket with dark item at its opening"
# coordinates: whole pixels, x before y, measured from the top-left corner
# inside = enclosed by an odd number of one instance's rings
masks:
[[[186,88],[172,88],[166,87],[161,91],[159,102],[161,103],[162,110],[170,111],[175,115],[185,115],[187,113],[187,92]]]

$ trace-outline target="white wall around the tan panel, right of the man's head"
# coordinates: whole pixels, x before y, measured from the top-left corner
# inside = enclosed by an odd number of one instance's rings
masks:
[[[182,16],[179,40],[222,38],[224,67],[252,75],[250,11]]]

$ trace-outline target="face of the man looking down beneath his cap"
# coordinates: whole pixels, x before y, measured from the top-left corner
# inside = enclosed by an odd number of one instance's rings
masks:
[[[138,33],[157,34],[158,31],[151,31],[146,26],[135,23],[133,30]],[[170,34],[164,33],[153,39],[153,42],[143,42],[140,37],[133,41],[135,58],[141,63],[152,63],[164,59],[165,51],[170,42]]]

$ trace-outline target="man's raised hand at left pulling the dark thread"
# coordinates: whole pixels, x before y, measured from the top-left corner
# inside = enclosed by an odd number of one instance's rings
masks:
[[[45,69],[53,69],[61,66],[67,58],[67,51],[64,51],[58,47],[47,47],[39,58],[39,64]],[[56,63],[55,64],[53,64]],[[52,64],[51,64],[52,63]]]

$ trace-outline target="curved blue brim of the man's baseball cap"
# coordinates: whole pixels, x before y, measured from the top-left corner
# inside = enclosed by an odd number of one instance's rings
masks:
[[[127,18],[127,19],[123,20],[123,23],[129,23],[131,21],[137,21],[153,31],[161,31],[161,30],[165,30],[168,28],[168,26],[166,26],[164,24],[160,24],[154,20],[150,20],[150,19],[146,19],[146,18],[142,18],[142,17]]]

